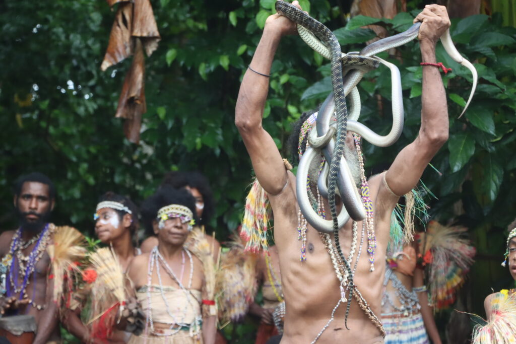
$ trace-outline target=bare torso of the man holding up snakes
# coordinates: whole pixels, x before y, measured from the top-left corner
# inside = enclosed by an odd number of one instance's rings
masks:
[[[377,248],[375,252],[375,271],[369,272],[367,254],[367,233],[362,222],[358,223],[357,252],[360,258],[354,283],[362,293],[373,312],[380,317],[381,292],[385,270],[385,251],[389,236],[392,209],[397,198],[390,195],[382,184],[382,175],[369,181],[371,198],[375,205],[375,232]],[[382,200],[380,203],[378,200]],[[286,303],[285,328],[282,343],[310,343],[328,323],[333,308],[340,299],[339,281],[335,275],[330,256],[319,234],[311,226],[307,231],[307,260],[300,261],[301,241],[298,240],[298,211],[295,195],[295,177],[289,173],[286,188],[277,196],[271,196],[274,214],[275,241],[280,254],[283,293]],[[328,213],[328,212],[327,212]],[[347,257],[352,241],[352,221],[348,221],[340,231],[342,251]],[[362,245],[360,247],[360,243]],[[356,261],[354,254],[351,268]],[[346,304],[337,308],[334,320],[319,338],[318,342],[375,343],[382,340],[380,331],[358,306],[351,301],[345,327]]]

